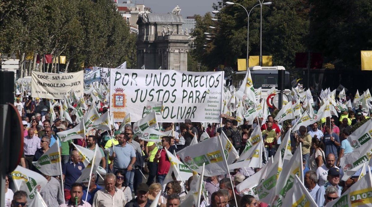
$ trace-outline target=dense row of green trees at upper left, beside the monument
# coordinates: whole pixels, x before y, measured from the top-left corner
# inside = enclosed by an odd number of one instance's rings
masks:
[[[3,54],[66,56],[69,72],[136,66],[136,35],[111,0],[3,0],[0,10]]]

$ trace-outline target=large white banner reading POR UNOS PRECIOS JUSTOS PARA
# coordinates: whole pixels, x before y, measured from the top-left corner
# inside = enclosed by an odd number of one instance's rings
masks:
[[[110,112],[114,121],[131,113],[136,122],[146,115],[148,101],[164,101],[162,122],[219,123],[223,72],[111,69]],[[135,112],[135,113],[134,113]]]

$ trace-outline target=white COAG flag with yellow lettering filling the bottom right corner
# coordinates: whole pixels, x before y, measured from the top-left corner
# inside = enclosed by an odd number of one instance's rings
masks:
[[[339,198],[330,201],[325,207],[371,207],[372,206],[372,178],[371,169],[368,174],[350,186]]]

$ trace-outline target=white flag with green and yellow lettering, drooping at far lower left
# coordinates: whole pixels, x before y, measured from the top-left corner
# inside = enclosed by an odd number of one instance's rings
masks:
[[[36,197],[38,187],[44,188],[48,181],[41,174],[32,170],[17,166],[12,172],[12,178],[16,190],[23,190],[27,193],[27,202],[31,203]]]

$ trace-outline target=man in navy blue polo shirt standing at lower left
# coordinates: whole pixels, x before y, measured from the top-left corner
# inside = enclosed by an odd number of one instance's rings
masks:
[[[80,155],[79,152],[76,150],[71,152],[71,161],[64,164],[62,167],[62,174],[64,177],[64,193],[65,193],[65,200],[69,200],[70,190],[72,184],[76,182],[76,180],[80,177],[81,171],[85,168],[84,164],[80,162]]]

